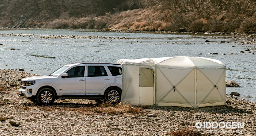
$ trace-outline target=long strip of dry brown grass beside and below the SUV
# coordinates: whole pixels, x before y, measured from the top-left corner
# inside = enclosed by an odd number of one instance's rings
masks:
[[[52,112],[77,112],[77,113],[108,113],[113,115],[118,114],[143,114],[145,109],[142,109],[139,106],[133,107],[129,104],[119,103],[119,104],[111,104],[110,102],[105,102],[102,104],[67,104],[60,103],[61,105],[52,105],[52,106],[37,106],[35,104],[26,104],[19,109],[30,110],[34,107],[44,110],[44,111],[52,111]]]

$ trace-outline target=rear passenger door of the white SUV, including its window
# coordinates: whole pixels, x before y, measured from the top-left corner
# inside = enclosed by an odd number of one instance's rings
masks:
[[[104,88],[111,84],[111,77],[104,65],[87,65],[86,95],[104,95]]]

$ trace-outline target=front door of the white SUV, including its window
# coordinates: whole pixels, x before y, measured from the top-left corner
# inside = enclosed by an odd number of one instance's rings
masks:
[[[59,78],[60,95],[85,95],[85,66],[69,69],[68,77]]]

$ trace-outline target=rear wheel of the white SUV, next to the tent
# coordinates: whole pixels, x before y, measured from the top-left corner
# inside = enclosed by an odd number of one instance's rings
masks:
[[[108,88],[105,93],[105,100],[110,101],[112,103],[120,103],[121,102],[120,90],[115,87]]]

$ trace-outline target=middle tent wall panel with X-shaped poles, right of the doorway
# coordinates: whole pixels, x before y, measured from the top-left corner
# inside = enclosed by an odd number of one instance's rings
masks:
[[[195,68],[156,66],[156,106],[194,107]]]

